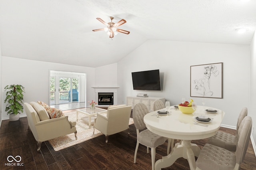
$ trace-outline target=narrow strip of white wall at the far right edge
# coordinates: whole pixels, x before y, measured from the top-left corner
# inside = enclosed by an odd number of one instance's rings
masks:
[[[250,65],[250,109],[248,115],[252,117],[252,136],[254,141],[256,141],[256,133],[254,132],[254,127],[256,125],[256,34],[251,43],[251,65]],[[256,129],[255,129],[256,130]]]

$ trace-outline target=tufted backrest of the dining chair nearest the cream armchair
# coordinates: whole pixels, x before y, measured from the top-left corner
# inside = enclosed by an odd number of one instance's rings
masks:
[[[132,110],[132,118],[136,129],[144,129],[146,125],[144,123],[144,116],[149,113],[148,107],[144,103],[137,103]]]

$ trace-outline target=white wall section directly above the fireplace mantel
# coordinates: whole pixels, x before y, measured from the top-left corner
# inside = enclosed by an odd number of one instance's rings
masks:
[[[117,63],[95,68],[94,87],[117,87]]]

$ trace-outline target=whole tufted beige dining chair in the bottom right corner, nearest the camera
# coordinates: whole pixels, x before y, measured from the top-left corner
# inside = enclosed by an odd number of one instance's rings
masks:
[[[205,144],[196,160],[196,170],[239,170],[244,161],[252,131],[252,118],[246,116],[237,132],[236,152]]]

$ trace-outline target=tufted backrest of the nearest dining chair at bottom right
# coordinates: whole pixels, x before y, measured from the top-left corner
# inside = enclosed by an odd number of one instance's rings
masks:
[[[241,164],[244,161],[244,156],[248,148],[250,135],[252,131],[252,118],[246,116],[240,125],[237,132],[237,144],[236,144],[236,164]]]

